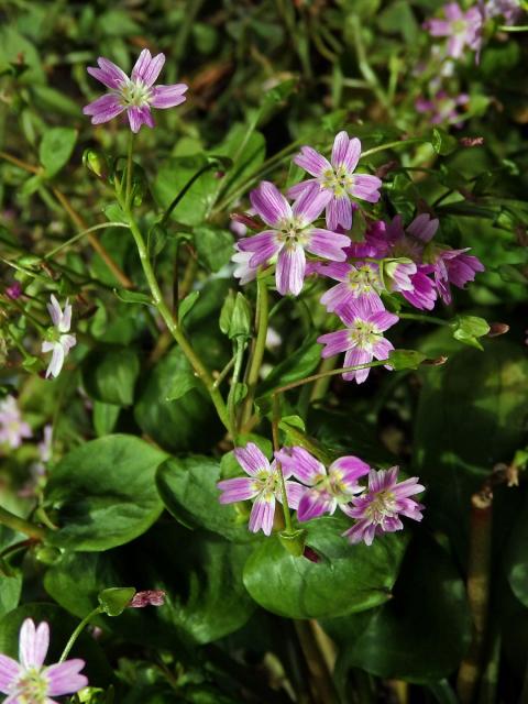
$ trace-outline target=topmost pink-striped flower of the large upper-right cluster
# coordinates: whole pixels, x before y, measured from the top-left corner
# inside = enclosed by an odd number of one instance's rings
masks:
[[[305,190],[318,185],[327,195],[327,226],[336,230],[341,226],[345,230],[352,227],[351,196],[377,202],[382,182],[370,174],[354,174],[361,156],[361,142],[350,139],[346,132],[340,132],[333,141],[331,162],[311,146],[304,146],[294,162],[314,176],[288,190],[288,196],[296,198]]]

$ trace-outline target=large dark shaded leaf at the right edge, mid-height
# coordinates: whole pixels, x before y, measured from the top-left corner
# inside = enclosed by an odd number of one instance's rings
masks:
[[[431,336],[428,354],[455,344],[449,329]],[[495,464],[509,462],[526,435],[528,360],[506,340],[485,354],[450,353],[447,364],[422,373],[414,431],[414,466],[428,487],[430,524],[468,553],[469,507]],[[471,422],[470,422],[471,421]]]

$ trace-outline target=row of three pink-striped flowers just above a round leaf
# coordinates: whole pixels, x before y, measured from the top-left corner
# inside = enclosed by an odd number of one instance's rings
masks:
[[[343,535],[350,542],[371,544],[376,535],[402,530],[399,516],[421,520],[424,508],[411,496],[425,491],[417,477],[398,483],[398,468],[373,470],[356,457],[339,458],[327,469],[300,447],[275,452],[272,463],[250,442],[234,455],[249,475],[218,483],[221,504],[253,501],[249,529],[270,536],[276,499],[283,501],[283,480],[289,508],[299,521],[334,514],[339,507],[355,524]],[[280,476],[282,475],[282,476]],[[360,480],[369,477],[369,485]]]

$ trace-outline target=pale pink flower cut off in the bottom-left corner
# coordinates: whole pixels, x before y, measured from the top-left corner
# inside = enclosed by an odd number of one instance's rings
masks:
[[[57,704],[50,697],[74,694],[88,684],[86,676],[80,674],[84,660],[43,667],[48,645],[46,622],[35,628],[33,620],[26,618],[20,629],[20,663],[0,654],[0,692],[8,694],[4,704]]]

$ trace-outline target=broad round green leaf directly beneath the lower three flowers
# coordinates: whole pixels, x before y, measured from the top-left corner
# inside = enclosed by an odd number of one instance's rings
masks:
[[[372,546],[351,546],[342,532],[350,521],[323,517],[306,524],[306,544],[321,560],[295,558],[277,535],[264,540],[244,568],[244,584],[264,608],[288,618],[331,618],[391,598],[406,538],[385,535]]]

